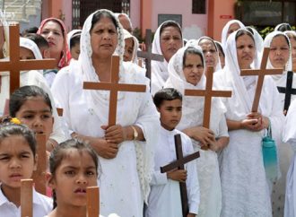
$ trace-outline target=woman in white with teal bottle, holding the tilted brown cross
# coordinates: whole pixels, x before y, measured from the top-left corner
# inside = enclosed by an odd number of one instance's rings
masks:
[[[224,100],[230,143],[220,156],[222,180],[222,217],[271,217],[269,181],[262,157],[262,138],[270,125],[274,140],[281,141],[283,112],[278,92],[266,77],[257,112],[251,113],[256,90],[256,76],[240,76],[251,68],[257,47],[248,30],[233,32],[226,43],[226,64],[215,79],[232,96]]]

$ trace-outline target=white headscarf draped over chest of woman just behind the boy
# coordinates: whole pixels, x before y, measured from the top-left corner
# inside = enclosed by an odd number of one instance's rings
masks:
[[[190,48],[196,48],[196,51],[202,57],[203,65],[205,66],[205,57],[203,55],[203,50],[199,46],[189,46]],[[169,62],[169,79],[165,83],[164,87],[172,87],[180,91],[184,95],[185,89],[190,90],[205,90],[205,67],[203,75],[200,81],[193,85],[186,81],[185,75],[183,73],[183,59],[187,48],[180,48],[178,52],[170,58]],[[222,106],[221,100],[214,98],[212,100],[212,109],[211,109],[211,117],[220,117],[222,113],[225,112],[224,107]],[[203,117],[204,117],[204,106],[205,106],[205,98],[204,97],[192,97],[192,96],[184,96],[183,97],[183,109],[182,109],[182,118],[180,123],[178,124],[178,129],[185,129],[187,127],[192,126],[202,126],[203,125]],[[211,118],[210,128],[213,131],[219,129],[219,121]]]

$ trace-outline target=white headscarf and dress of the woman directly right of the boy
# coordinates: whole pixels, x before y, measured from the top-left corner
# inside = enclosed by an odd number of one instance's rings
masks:
[[[200,47],[195,47],[201,56]],[[183,73],[183,56],[186,48],[180,48],[171,57],[169,63],[169,79],[164,87],[172,87],[184,93],[185,89],[205,90],[205,70],[201,80],[195,85],[186,81]],[[205,65],[204,57],[203,62]],[[204,98],[184,96],[182,102],[182,118],[178,124],[178,130],[189,127],[203,126]],[[213,99],[211,110],[210,129],[216,138],[227,136],[227,125],[224,117],[222,103],[218,99]],[[199,142],[192,140],[194,150],[200,152],[197,159],[197,173],[200,186],[200,204],[198,216],[219,217],[222,209],[222,190],[219,174],[219,165],[216,152],[212,150],[203,151],[200,149]]]

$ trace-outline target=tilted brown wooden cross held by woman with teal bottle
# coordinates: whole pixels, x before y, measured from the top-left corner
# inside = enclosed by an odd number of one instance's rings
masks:
[[[240,72],[241,76],[258,75],[257,87],[252,105],[252,112],[257,112],[259,106],[259,100],[263,87],[264,77],[267,74],[283,74],[283,68],[266,69],[267,60],[269,55],[269,48],[264,48],[260,69],[243,69]]]

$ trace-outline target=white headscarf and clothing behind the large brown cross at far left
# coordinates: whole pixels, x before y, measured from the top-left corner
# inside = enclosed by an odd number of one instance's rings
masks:
[[[34,54],[36,59],[41,60],[42,56],[40,54],[39,48],[37,45],[30,39],[20,38],[20,46],[23,48],[28,48]],[[8,102],[10,97],[9,87],[10,87],[10,76],[9,73],[5,73],[0,76],[1,79],[1,92],[0,92],[0,114],[4,111],[5,103]],[[43,91],[48,93],[49,99],[51,101],[53,117],[55,118],[53,125],[53,132],[50,135],[50,139],[57,141],[57,143],[64,142],[69,135],[65,135],[65,131],[63,131],[63,126],[60,122],[60,119],[57,115],[57,109],[55,105],[55,101],[52,97],[51,91],[48,87],[48,83],[42,75],[41,70],[30,70],[30,71],[22,71],[20,76],[20,86],[25,85],[35,85],[41,88]],[[6,105],[7,106],[7,105]]]

